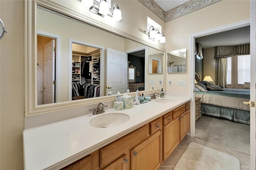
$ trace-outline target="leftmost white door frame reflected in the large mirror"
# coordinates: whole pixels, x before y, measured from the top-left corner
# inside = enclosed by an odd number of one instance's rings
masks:
[[[57,35],[57,34],[52,34],[52,33],[49,33],[49,32],[44,32],[44,31],[40,31],[40,30],[37,30],[36,32],[37,35],[40,35],[40,36],[44,36],[44,37],[49,37],[49,38],[52,38],[52,39],[55,39],[55,42],[56,42],[56,46],[55,46],[55,75],[60,75],[60,42],[61,42],[61,36]],[[37,75],[37,73],[36,73]],[[55,85],[55,103],[58,103],[60,102],[60,76],[55,76],[55,81],[56,81],[56,85]],[[36,83],[36,87],[37,87],[37,83]],[[36,93],[37,95],[37,93]],[[37,96],[36,96],[36,99],[37,99]],[[37,103],[37,101],[36,101]]]

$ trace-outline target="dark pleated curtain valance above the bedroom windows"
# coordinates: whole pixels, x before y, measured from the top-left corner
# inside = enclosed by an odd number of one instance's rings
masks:
[[[236,46],[216,46],[214,58],[226,58],[234,55],[250,54],[250,44]]]

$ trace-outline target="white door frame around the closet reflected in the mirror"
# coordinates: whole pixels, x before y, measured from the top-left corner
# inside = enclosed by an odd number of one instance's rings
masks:
[[[68,101],[72,101],[72,43],[77,43],[80,45],[85,45],[88,47],[93,47],[93,48],[98,48],[100,49],[100,96],[104,96],[104,80],[105,80],[105,75],[103,74],[104,71],[104,64],[105,63],[105,57],[104,57],[104,52],[105,48],[100,45],[88,43],[88,42],[82,42],[80,40],[75,40],[72,38],[68,39]],[[104,76],[103,76],[104,75]]]

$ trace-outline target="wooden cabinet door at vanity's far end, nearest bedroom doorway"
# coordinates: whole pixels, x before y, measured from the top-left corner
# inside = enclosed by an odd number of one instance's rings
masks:
[[[190,130],[190,110],[180,115],[180,141]]]

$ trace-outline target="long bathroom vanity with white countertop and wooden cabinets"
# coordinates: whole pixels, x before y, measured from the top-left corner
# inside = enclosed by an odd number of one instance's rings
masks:
[[[99,117],[111,114],[129,119],[100,125]],[[95,120],[99,123],[92,124]],[[130,109],[107,109],[24,130],[24,169],[158,169],[189,130],[188,97],[165,96]]]

